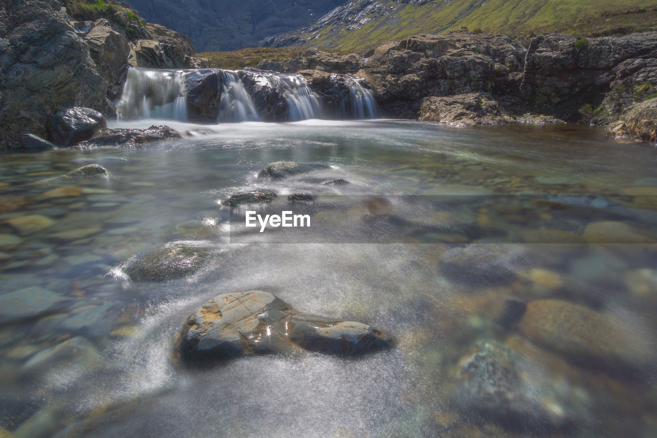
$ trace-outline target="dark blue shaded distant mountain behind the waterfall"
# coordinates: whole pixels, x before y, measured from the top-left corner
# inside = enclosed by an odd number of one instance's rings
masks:
[[[255,47],[313,22],[345,0],[129,0],[148,22],[191,37],[197,51]]]

